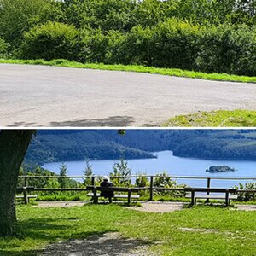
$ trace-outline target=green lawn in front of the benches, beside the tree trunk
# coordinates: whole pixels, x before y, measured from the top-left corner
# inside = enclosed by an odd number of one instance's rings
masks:
[[[117,205],[70,208],[18,206],[22,238],[0,239],[0,254],[36,255],[57,241],[120,232],[150,243],[160,255],[255,255],[256,212],[224,207],[167,213],[136,212]],[[183,230],[183,228],[199,230]],[[207,232],[214,229],[215,231]]]

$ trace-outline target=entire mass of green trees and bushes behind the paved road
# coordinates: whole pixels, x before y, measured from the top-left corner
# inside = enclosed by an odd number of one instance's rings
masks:
[[[0,0],[0,6],[0,36],[12,57],[256,75],[255,0]]]

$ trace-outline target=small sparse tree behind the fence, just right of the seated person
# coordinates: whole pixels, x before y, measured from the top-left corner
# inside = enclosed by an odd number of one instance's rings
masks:
[[[127,161],[120,159],[119,163],[113,164],[113,172],[109,176],[114,186],[129,186],[131,185],[131,168],[128,167]]]

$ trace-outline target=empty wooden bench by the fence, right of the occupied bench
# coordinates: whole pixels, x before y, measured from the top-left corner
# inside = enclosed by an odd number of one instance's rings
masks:
[[[216,188],[185,188],[185,193],[189,192],[189,195],[185,195],[186,198],[191,198],[191,205],[196,204],[196,199],[221,199],[225,201],[225,206],[230,205],[231,200],[236,200],[237,195],[231,195],[237,193],[236,189],[216,189]],[[197,192],[197,193],[195,193]],[[207,193],[207,194],[201,194]],[[210,193],[218,193],[217,195],[210,195]],[[219,195],[224,194],[224,195]]]

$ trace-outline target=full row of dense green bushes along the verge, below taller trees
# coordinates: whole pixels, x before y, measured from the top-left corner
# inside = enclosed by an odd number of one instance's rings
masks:
[[[140,64],[207,73],[256,75],[256,29],[246,25],[191,25],[171,18],[130,32],[102,32],[58,22],[25,33],[23,57],[107,64]]]

